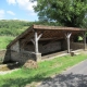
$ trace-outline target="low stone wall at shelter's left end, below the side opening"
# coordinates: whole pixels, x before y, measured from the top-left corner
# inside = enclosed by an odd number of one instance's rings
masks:
[[[24,52],[11,51],[11,60],[24,64],[27,60],[36,60],[36,55],[34,52],[29,51]]]

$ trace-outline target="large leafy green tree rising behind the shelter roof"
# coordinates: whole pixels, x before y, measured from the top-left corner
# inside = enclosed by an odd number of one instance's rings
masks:
[[[87,15],[87,0],[37,0],[37,5],[34,9],[40,21],[80,27]]]

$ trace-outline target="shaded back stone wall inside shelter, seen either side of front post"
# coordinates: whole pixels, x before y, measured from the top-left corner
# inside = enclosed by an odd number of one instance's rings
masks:
[[[50,53],[54,51],[60,51],[66,49],[66,45],[64,41],[44,41],[38,45],[40,53]],[[35,51],[34,45],[27,45],[24,48],[27,51]]]

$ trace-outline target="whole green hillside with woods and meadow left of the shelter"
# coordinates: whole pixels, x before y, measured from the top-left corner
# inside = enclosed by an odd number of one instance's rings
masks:
[[[0,49],[5,49],[16,36],[27,29],[35,22],[25,22],[18,20],[0,21]]]

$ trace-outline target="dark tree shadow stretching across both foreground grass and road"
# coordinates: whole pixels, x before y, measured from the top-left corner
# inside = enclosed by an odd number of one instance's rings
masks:
[[[44,80],[38,87],[87,87],[87,75],[82,74],[65,74],[57,75],[55,77],[46,78],[45,74],[36,75],[34,77],[5,79],[5,84],[1,87],[25,87],[32,82]]]

